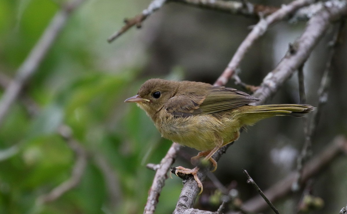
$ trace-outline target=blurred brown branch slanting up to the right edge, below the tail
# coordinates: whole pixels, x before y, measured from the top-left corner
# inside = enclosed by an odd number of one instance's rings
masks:
[[[300,184],[305,183],[308,179],[320,173],[340,154],[347,154],[347,139],[344,136],[336,137],[320,154],[316,155],[305,164]],[[291,193],[291,184],[293,184],[295,179],[296,172],[292,172],[286,178],[265,190],[264,194],[269,200],[276,202],[276,200]],[[266,204],[261,196],[255,196],[247,200],[242,208],[248,212],[260,212],[267,206],[268,204]]]

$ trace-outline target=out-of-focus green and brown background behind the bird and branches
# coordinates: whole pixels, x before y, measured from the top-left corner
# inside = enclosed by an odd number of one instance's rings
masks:
[[[64,2],[0,1],[1,96]],[[86,0],[71,14],[0,127],[0,213],[143,212],[154,176],[146,164],[159,163],[171,142],[161,138],[143,110],[124,100],[150,78],[213,83],[249,26],[257,23],[251,17],[170,2],[146,19],[141,29],[130,29],[107,43],[124,18],[139,14],[150,2]],[[280,7],[290,1],[251,2]],[[258,86],[304,27],[304,22],[271,27],[243,60],[239,73],[243,82]],[[317,90],[335,30],[331,26],[305,64],[307,104],[318,103]],[[335,136],[347,134],[346,50],[344,40],[333,59],[328,102],[312,139],[313,155]],[[245,91],[233,81],[227,86]],[[298,102],[294,74],[269,104]],[[59,132],[63,124],[69,127],[67,138]],[[214,175],[246,201],[257,192],[246,183],[242,169],[262,189],[284,178],[296,169],[303,127],[303,118],[294,117],[270,118],[249,127],[222,156]],[[40,203],[71,177],[78,154],[71,139],[86,151],[81,180],[61,197]],[[189,159],[196,154],[194,149],[182,149],[174,166],[191,167]],[[172,213],[181,187],[176,176],[166,180],[156,213]],[[215,189],[208,179],[196,207],[216,211],[220,201],[212,200]],[[346,191],[347,158],[341,156],[312,179],[312,194],[324,201],[315,213],[338,213],[346,206]],[[300,193],[290,195],[275,206],[281,213],[294,213],[300,198]]]

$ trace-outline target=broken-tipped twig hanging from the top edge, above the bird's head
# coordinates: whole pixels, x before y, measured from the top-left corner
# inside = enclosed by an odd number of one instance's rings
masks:
[[[120,35],[124,34],[128,29],[135,26],[137,28],[141,27],[142,21],[145,20],[147,17],[149,17],[151,14],[153,14],[154,11],[161,8],[164,3],[167,0],[153,0],[147,9],[143,10],[141,14],[135,16],[134,18],[125,19],[125,25],[118,30],[116,33],[114,33],[112,36],[110,36],[107,41],[109,43],[113,42],[116,38],[118,38]]]

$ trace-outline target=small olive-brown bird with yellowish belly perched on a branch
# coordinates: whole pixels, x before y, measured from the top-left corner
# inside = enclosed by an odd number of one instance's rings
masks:
[[[136,102],[152,119],[162,137],[199,152],[193,157],[196,163],[210,160],[215,171],[217,162],[212,155],[222,146],[236,141],[243,127],[277,115],[300,116],[312,112],[311,105],[273,104],[249,105],[260,99],[243,91],[203,82],[149,79],[137,94],[124,102]],[[192,174],[200,187],[194,169],[176,167],[175,174]],[[178,176],[178,175],[177,175]]]

